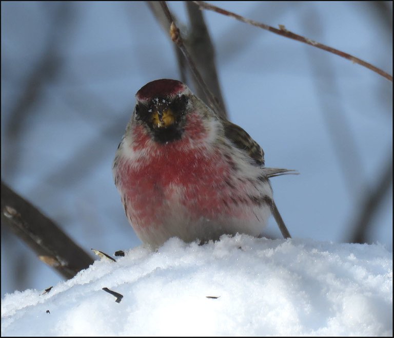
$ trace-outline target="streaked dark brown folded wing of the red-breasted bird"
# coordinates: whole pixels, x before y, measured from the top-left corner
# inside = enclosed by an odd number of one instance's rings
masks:
[[[247,154],[260,166],[264,166],[264,152],[261,146],[254,141],[248,133],[237,124],[223,120],[224,135],[235,146],[247,152]]]

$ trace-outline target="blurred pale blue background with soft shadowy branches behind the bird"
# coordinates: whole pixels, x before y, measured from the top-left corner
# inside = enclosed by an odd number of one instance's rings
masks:
[[[392,74],[392,2],[214,4]],[[168,5],[187,36],[184,4]],[[85,251],[141,245],[111,167],[135,92],[181,79],[168,34],[145,2],[1,6],[2,180]],[[263,147],[267,166],[300,172],[272,179],[292,237],[351,242],[367,217],[365,241],[392,251],[392,84],[317,48],[204,16],[230,120]],[[267,234],[281,238],[272,218]],[[2,224],[2,296],[60,280]]]

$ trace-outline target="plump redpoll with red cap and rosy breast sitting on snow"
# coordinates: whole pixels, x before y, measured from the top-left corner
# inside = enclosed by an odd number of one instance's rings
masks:
[[[268,178],[289,171],[264,167],[262,148],[244,129],[179,81],[149,82],[136,101],[113,176],[144,243],[260,236],[271,212],[277,219]]]

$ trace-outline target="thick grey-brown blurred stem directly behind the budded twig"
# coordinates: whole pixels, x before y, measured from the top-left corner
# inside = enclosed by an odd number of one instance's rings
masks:
[[[191,1],[186,1],[186,8],[189,14],[190,32],[188,39],[185,41],[193,60],[195,61],[197,69],[200,71],[202,78],[207,84],[209,90],[213,93],[216,100],[219,101],[219,105],[227,116],[226,108],[220,90],[218,72],[215,66],[215,52],[209,36],[208,28],[204,21],[203,12],[199,9],[199,6]],[[208,99],[204,93],[196,84],[197,96],[204,102]]]

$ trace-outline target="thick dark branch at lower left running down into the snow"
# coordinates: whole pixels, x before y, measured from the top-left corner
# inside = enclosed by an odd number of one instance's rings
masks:
[[[66,278],[93,264],[93,259],[56,224],[2,181],[2,227],[6,224],[38,258]]]

